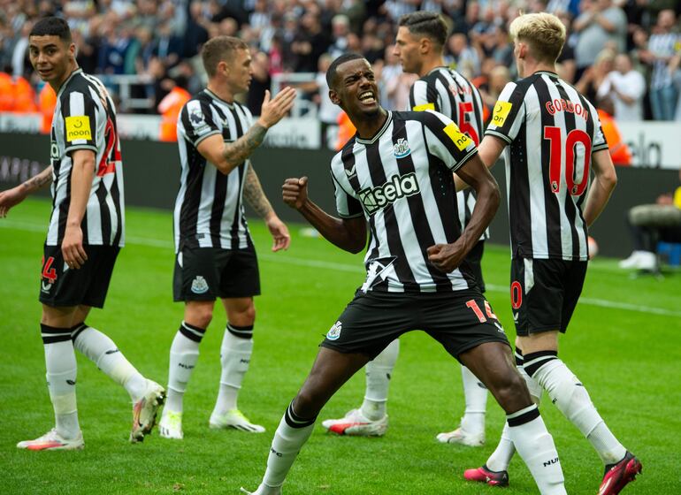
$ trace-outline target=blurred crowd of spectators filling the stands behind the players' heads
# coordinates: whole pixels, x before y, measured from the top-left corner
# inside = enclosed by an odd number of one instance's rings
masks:
[[[519,11],[549,11],[568,29],[559,58],[564,80],[594,103],[609,100],[618,121],[681,120],[681,0],[0,0],[0,110],[20,99],[6,97],[12,81],[21,86],[17,95],[28,94],[24,105],[31,89],[40,93],[27,36],[46,15],[68,20],[85,72],[143,76],[148,82],[131,95],[153,102],[142,111],[158,112],[167,95],[177,99],[202,87],[197,54],[218,34],[252,47],[247,103],[256,114],[273,76],[310,72],[299,86],[318,104],[322,122],[335,123],[319,74],[345,51],[369,59],[386,108],[402,110],[414,76],[402,73],[392,53],[394,35],[402,14],[418,9],[445,14],[446,60],[474,81],[487,105],[516,78],[510,21]]]

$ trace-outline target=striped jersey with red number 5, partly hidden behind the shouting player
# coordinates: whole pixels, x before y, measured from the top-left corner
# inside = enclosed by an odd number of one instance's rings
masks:
[[[417,80],[409,91],[409,110],[435,110],[455,121],[464,133],[480,144],[483,134],[483,105],[478,88],[459,72],[436,67]],[[458,216],[462,228],[471,220],[475,208],[475,191],[470,187],[457,194]],[[486,229],[480,240],[489,239]]]

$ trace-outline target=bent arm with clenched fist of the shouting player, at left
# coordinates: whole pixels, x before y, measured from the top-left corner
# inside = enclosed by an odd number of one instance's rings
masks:
[[[333,245],[359,253],[366,246],[366,221],[364,217],[336,218],[319,208],[308,197],[308,178],[286,179],[282,187],[284,202],[300,211],[325,240]]]

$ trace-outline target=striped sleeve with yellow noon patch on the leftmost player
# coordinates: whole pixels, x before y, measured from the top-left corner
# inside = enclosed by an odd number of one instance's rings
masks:
[[[61,111],[65,152],[92,149],[96,153],[97,138],[99,133],[104,132],[105,122],[103,111],[97,109],[92,95],[80,91],[67,93],[62,100]]]

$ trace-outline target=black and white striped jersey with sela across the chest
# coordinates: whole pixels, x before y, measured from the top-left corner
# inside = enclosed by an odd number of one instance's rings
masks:
[[[364,216],[370,240],[362,290],[451,292],[475,282],[464,263],[445,274],[426,249],[461,235],[453,171],[478,153],[446,116],[428,111],[388,112],[371,140],[352,138],[333,157],[336,209]]]

